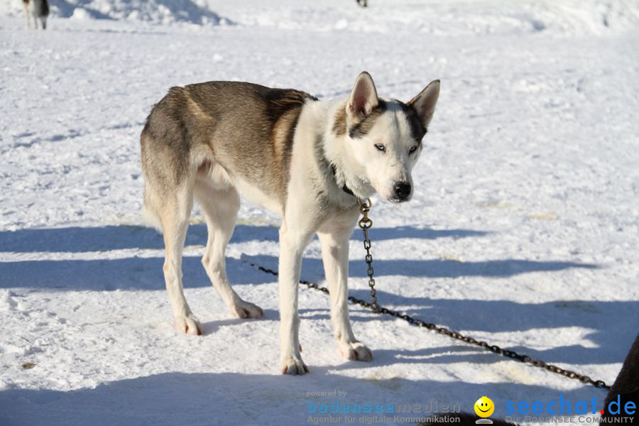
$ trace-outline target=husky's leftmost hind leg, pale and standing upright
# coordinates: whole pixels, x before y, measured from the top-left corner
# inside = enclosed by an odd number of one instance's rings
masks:
[[[187,334],[202,334],[202,328],[192,314],[182,290],[182,251],[186,239],[189,218],[193,207],[192,182],[184,182],[175,192],[163,200],[159,213],[164,236],[165,261],[163,266],[175,328]]]

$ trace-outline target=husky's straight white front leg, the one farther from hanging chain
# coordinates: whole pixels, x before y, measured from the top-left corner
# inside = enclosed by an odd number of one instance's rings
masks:
[[[312,233],[280,227],[280,369],[284,374],[305,374],[308,367],[300,354],[300,316],[297,314],[297,289],[300,286],[302,253]]]

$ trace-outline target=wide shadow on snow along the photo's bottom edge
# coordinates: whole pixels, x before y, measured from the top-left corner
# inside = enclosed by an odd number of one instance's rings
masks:
[[[352,363],[349,363],[352,364]],[[478,372],[479,373],[479,372]],[[310,392],[333,392],[344,396],[315,397]],[[309,375],[290,377],[243,373],[160,373],[102,383],[95,388],[48,391],[9,388],[0,391],[0,423],[3,425],[302,425],[322,403],[393,404],[393,413],[376,417],[416,417],[398,414],[399,406],[437,402],[459,405],[472,412],[474,401],[489,395],[503,417],[506,400],[590,401],[605,393],[581,386],[558,391],[547,386],[519,383],[464,383],[462,381],[414,381],[405,378],[356,378],[331,368],[315,367]],[[601,393],[601,395],[599,395]],[[371,415],[353,414],[357,424]],[[364,417],[366,416],[366,417]],[[427,414],[417,415],[426,417]],[[333,414],[342,417],[344,414]],[[379,420],[378,420],[379,422]],[[312,423],[311,423],[312,424]],[[355,424],[355,423],[353,423]],[[370,423],[368,423],[370,424]],[[375,423],[377,424],[377,423]]]

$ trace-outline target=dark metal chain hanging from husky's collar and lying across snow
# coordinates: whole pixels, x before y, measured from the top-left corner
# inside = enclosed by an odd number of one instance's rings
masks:
[[[437,334],[444,334],[444,336],[451,337],[452,339],[457,339],[461,342],[472,344],[474,346],[479,346],[486,351],[491,351],[493,354],[498,354],[501,356],[506,356],[506,358],[514,359],[515,361],[520,361],[525,364],[530,364],[531,366],[544,368],[551,373],[556,373],[561,376],[565,376],[567,378],[574,378],[581,383],[589,384],[594,386],[595,388],[601,389],[610,389],[610,386],[606,385],[606,382],[601,380],[593,380],[589,376],[584,374],[576,373],[575,371],[566,370],[564,368],[555,366],[553,364],[547,364],[545,361],[541,361],[540,359],[532,359],[528,355],[518,354],[515,351],[511,351],[510,349],[502,349],[501,347],[488,344],[483,340],[477,340],[473,337],[464,336],[464,334],[454,332],[451,329],[447,329],[446,327],[437,327],[437,324],[432,324],[430,322],[425,322],[423,320],[419,320],[417,318],[413,318],[410,315],[402,314],[399,311],[388,309],[387,307],[383,307],[378,305],[377,303],[377,292],[375,290],[375,279],[373,278],[373,256],[371,255],[371,240],[368,238],[368,229],[373,226],[373,221],[368,218],[368,212],[371,210],[371,200],[364,200],[364,202],[360,203],[359,211],[362,214],[362,218],[359,221],[359,227],[364,232],[364,249],[366,249],[366,265],[368,266],[366,270],[366,274],[368,275],[368,286],[371,288],[371,302],[366,302],[366,300],[361,300],[353,296],[349,296],[349,300],[356,305],[360,305],[362,307],[366,307],[373,312],[383,315],[390,315],[391,317],[400,318],[405,322],[408,322],[410,325],[414,325],[415,327],[423,327],[425,329],[429,329],[432,332],[436,332]],[[271,275],[278,276],[276,271],[272,269],[264,268],[263,266],[256,265],[255,263],[249,263],[249,265],[254,268],[258,268],[258,270],[269,273]],[[311,283],[310,281],[300,280],[300,284],[306,285],[308,288],[312,288],[315,290],[320,290],[322,293],[329,294],[329,290],[326,287],[321,287],[316,283]]]

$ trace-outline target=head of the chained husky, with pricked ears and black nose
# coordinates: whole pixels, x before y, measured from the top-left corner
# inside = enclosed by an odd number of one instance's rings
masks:
[[[334,125],[336,133],[344,133],[349,161],[355,163],[358,178],[364,182],[356,186],[368,186],[391,202],[410,200],[411,170],[420,157],[438,97],[439,80],[405,104],[378,98],[368,72],[357,77],[345,111],[338,112]],[[367,192],[365,187],[357,189]]]

